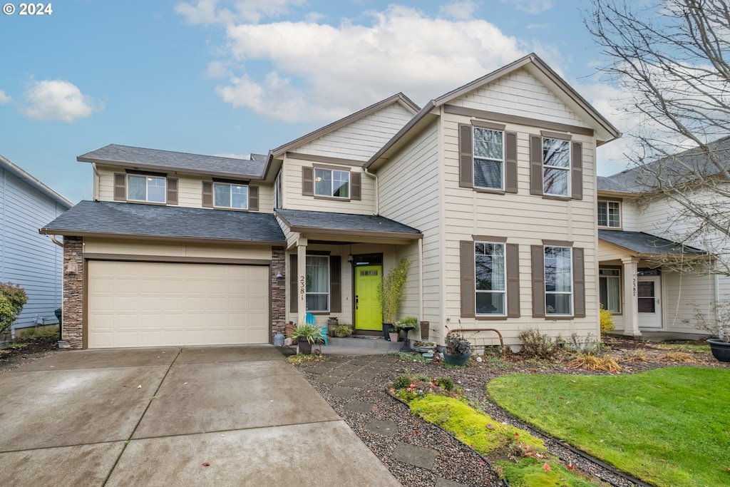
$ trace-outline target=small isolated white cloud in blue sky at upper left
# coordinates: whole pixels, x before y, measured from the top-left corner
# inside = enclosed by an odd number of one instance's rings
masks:
[[[25,93],[27,101],[22,112],[37,120],[73,122],[104,109],[89,96],[81,93],[73,83],[64,80],[32,81]]]

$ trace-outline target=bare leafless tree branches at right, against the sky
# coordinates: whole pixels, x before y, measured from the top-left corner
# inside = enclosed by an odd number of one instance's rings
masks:
[[[600,69],[623,88],[624,110],[638,120],[626,154],[637,169],[623,183],[645,195],[639,204],[669,199],[671,237],[714,253],[715,272],[730,275],[727,1],[593,0],[585,24],[603,47]]]

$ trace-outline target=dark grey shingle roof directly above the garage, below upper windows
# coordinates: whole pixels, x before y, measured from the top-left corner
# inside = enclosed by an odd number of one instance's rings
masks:
[[[41,229],[58,235],[134,235],[237,242],[285,242],[272,213],[82,201]]]

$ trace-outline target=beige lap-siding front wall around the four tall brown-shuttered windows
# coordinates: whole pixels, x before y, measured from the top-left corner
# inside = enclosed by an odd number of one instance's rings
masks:
[[[527,108],[526,108],[527,110]],[[533,112],[534,118],[541,115]],[[545,118],[542,117],[541,118]],[[504,195],[479,193],[458,185],[458,123],[469,119],[442,114],[444,161],[443,180],[445,210],[444,310],[450,327],[459,321],[464,327],[497,328],[507,343],[518,343],[521,329],[539,328],[549,334],[593,337],[599,334],[597,228],[595,186],[595,142],[591,137],[573,134],[583,143],[583,199],[557,201],[529,193],[529,134],[539,133],[529,126],[507,125],[518,134],[518,193]],[[575,121],[572,122],[575,124]],[[508,243],[520,247],[520,315],[504,321],[480,321],[461,318],[459,241],[472,235],[507,237]],[[585,250],[585,318],[545,320],[532,318],[530,245],[542,245],[542,239],[566,240]]]

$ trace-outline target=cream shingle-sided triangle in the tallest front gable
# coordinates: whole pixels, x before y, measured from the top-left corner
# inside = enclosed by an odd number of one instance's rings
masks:
[[[489,85],[467,93],[451,104],[588,127],[588,124],[526,69],[518,69]]]

